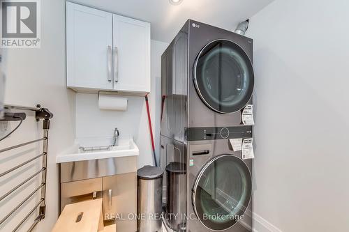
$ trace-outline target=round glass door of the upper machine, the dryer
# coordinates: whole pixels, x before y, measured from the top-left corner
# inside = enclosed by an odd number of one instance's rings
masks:
[[[214,40],[198,55],[194,84],[205,104],[221,114],[239,111],[253,92],[254,74],[246,52],[230,40]]]

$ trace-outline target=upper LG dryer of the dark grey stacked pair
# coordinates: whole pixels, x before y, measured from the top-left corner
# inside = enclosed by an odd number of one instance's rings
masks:
[[[242,125],[252,51],[251,38],[188,20],[161,57],[161,134],[183,141],[185,127]]]

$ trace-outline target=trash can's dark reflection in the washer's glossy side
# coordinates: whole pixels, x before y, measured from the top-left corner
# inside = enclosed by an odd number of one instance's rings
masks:
[[[170,162],[166,166],[166,175],[166,224],[174,231],[186,231],[186,164]]]

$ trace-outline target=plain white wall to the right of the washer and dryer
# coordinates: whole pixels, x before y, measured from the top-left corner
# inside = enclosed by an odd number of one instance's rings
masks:
[[[348,8],[276,0],[251,19],[254,210],[281,231],[349,231]]]

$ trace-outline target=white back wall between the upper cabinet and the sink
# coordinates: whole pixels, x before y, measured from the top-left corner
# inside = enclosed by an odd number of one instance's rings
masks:
[[[156,155],[159,155],[160,110],[161,110],[161,54],[168,43],[151,40],[151,93],[149,107]],[[123,96],[124,97],[124,96]],[[98,109],[98,95],[77,93],[76,95],[76,137],[112,137],[117,127],[121,137],[133,136],[140,156],[138,167],[153,165],[151,139],[147,108],[144,97],[127,97],[127,111],[106,111]]]

